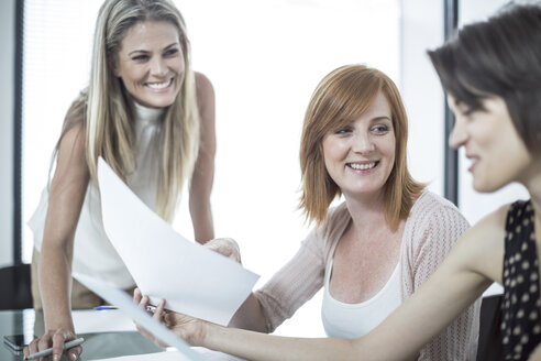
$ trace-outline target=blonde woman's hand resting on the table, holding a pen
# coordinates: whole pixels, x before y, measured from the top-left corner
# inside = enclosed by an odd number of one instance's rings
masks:
[[[24,355],[30,355],[32,353],[36,353],[38,351],[43,351],[48,348],[53,348],[53,355],[47,359],[48,357],[45,358],[40,358],[37,359],[38,361],[45,361],[45,360],[53,360],[53,361],[59,361],[62,353],[64,352],[64,343],[67,341],[75,340],[77,337],[76,335],[68,329],[56,329],[56,330],[48,330],[45,332],[40,338],[34,339],[32,342],[30,342],[29,346],[24,347]],[[69,350],[66,350],[66,355],[69,361],[75,361],[79,359],[79,355],[82,353],[82,347],[76,346],[74,348],[70,348]]]

